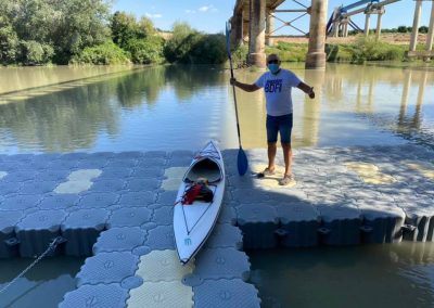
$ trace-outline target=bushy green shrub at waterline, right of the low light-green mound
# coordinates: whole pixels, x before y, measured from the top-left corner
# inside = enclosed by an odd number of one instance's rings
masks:
[[[127,43],[127,51],[131,53],[131,61],[136,64],[161,63],[163,61],[164,39],[150,36],[144,39],[131,39]]]

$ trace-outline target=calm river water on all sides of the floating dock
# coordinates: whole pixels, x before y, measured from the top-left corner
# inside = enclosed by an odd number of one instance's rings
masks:
[[[309,100],[293,90],[294,147],[407,141],[434,147],[432,69],[288,67],[317,92]],[[235,72],[245,82],[259,74]],[[208,139],[238,147],[229,72],[221,67],[0,68],[0,154],[196,150]],[[264,147],[264,94],[237,93],[243,147]],[[433,243],[250,256],[264,307],[434,306]],[[0,290],[30,261],[1,260]],[[81,264],[43,260],[0,296],[0,307],[55,307]]]

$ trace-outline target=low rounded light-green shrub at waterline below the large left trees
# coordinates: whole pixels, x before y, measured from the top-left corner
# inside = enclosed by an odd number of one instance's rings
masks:
[[[71,64],[129,64],[129,53],[120,49],[113,41],[106,41],[103,44],[88,47],[78,54],[73,56]]]

